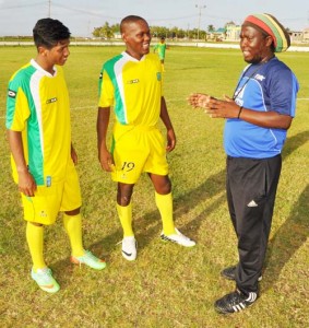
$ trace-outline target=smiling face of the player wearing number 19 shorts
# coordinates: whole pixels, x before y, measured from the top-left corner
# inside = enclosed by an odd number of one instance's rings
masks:
[[[145,21],[131,22],[123,26],[122,39],[127,46],[127,52],[140,60],[150,52],[151,32]]]

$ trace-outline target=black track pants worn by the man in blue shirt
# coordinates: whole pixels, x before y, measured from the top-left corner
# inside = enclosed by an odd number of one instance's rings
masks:
[[[238,238],[237,288],[257,292],[271,231],[282,157],[227,157],[226,191]]]

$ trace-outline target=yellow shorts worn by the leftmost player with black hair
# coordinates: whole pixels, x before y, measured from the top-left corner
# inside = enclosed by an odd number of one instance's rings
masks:
[[[34,197],[22,194],[24,219],[49,225],[55,223],[59,212],[72,211],[82,206],[78,172],[73,162],[68,164],[66,179],[47,186],[37,186]]]

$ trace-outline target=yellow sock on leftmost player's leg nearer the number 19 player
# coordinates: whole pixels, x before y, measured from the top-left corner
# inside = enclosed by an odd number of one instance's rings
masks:
[[[67,215],[63,213],[63,225],[70,239],[72,256],[83,256],[85,249],[82,239],[82,215]]]

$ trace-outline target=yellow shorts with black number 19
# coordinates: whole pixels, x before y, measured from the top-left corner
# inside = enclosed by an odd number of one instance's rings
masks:
[[[114,130],[111,178],[135,184],[143,172],[167,175],[165,140],[156,127],[117,125]]]

